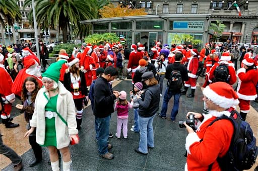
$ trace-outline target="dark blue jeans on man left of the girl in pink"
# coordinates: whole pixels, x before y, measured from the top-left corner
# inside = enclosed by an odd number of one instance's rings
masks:
[[[109,121],[110,116],[105,118],[98,118],[96,117],[95,120],[97,122],[97,139],[98,139],[98,151],[99,154],[106,154],[107,150],[107,140],[109,135]]]

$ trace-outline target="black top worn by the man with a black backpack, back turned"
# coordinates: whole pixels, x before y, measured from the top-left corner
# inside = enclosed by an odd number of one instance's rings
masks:
[[[187,74],[187,68],[186,66],[184,66],[183,64],[181,64],[180,62],[174,62],[172,64],[167,65],[166,68],[166,73],[165,73],[165,78],[167,78],[167,80],[169,80],[170,78],[170,74],[173,70],[179,70],[182,76],[182,81],[187,81],[188,80],[188,74]],[[174,93],[180,93],[181,90],[172,90]]]

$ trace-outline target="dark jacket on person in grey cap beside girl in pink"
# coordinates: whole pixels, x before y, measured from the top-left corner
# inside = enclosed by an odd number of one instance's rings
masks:
[[[139,115],[141,117],[151,117],[156,114],[159,109],[160,87],[159,84],[148,87],[144,91],[142,99],[138,100]]]

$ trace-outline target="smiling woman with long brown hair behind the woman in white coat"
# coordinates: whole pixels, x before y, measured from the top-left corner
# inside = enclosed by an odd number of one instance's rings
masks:
[[[29,76],[24,80],[21,99],[23,105],[17,104],[16,108],[24,112],[24,118],[27,122],[26,128],[29,130],[30,120],[34,113],[34,104],[38,91],[40,90],[38,81],[35,77]],[[29,143],[35,155],[35,158],[30,162],[30,167],[33,167],[42,160],[42,149],[41,146],[36,142],[36,129],[29,136]]]

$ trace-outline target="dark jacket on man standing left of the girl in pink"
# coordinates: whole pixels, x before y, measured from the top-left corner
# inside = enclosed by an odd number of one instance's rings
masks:
[[[116,99],[110,89],[109,82],[102,76],[94,84],[94,109],[93,114],[98,118],[105,118],[114,112]]]

